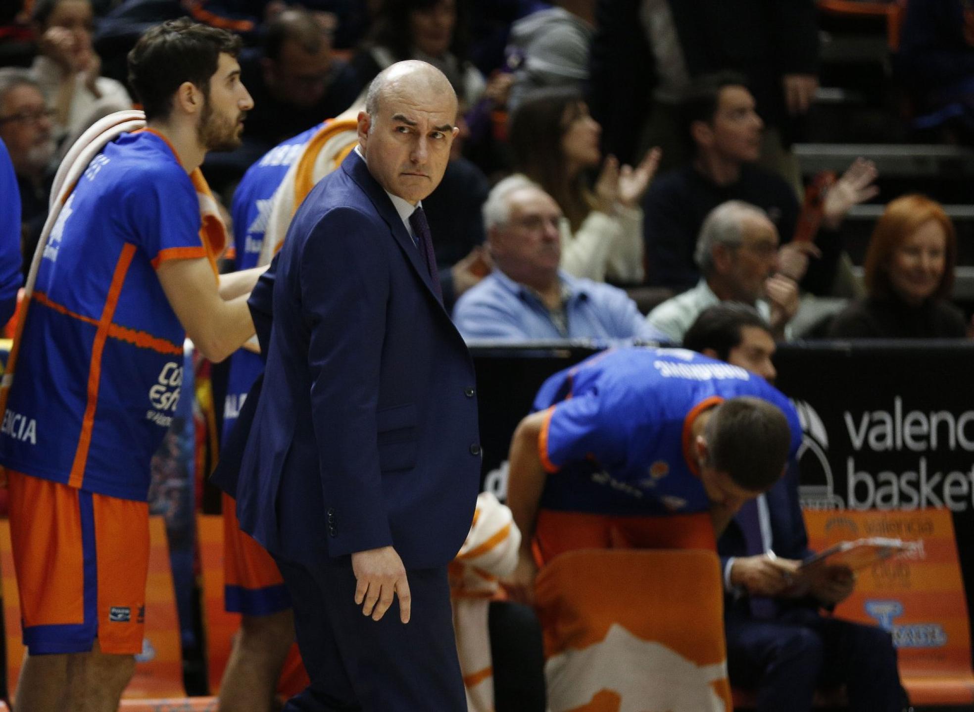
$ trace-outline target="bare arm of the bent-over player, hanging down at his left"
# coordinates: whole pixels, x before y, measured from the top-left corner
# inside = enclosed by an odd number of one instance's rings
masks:
[[[538,503],[541,501],[547,477],[539,450],[546,416],[547,411],[539,411],[520,422],[510,441],[507,457],[507,506],[510,507],[514,523],[521,530],[521,550],[517,568],[508,581],[508,589],[515,600],[523,603],[533,602],[534,581],[538,575],[538,567],[531,553],[531,542],[535,535]]]

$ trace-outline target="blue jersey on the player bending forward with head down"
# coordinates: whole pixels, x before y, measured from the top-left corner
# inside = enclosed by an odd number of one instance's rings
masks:
[[[683,349],[628,348],[591,356],[547,379],[540,448],[551,474],[541,506],[597,514],[688,514],[709,508],[687,452],[701,410],[741,395],[781,408],[802,438],[788,399],[760,376]]]

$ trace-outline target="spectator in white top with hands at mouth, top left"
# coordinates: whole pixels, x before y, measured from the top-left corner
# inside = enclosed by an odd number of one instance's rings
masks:
[[[131,96],[119,82],[100,76],[91,0],[37,0],[32,19],[41,54],[30,72],[55,112],[55,138],[66,151],[98,119],[130,109]]]

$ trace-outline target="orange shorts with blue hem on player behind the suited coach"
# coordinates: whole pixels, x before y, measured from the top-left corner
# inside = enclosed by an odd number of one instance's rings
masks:
[[[291,599],[274,558],[241,530],[237,502],[223,495],[223,600],[230,613],[269,616],[286,611]]]

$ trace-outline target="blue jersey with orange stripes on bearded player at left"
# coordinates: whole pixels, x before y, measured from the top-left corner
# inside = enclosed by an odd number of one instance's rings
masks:
[[[167,141],[150,131],[105,146],[78,180],[44,249],[0,428],[0,464],[128,500],[182,385],[186,333],[156,276],[206,257],[200,205]]]

